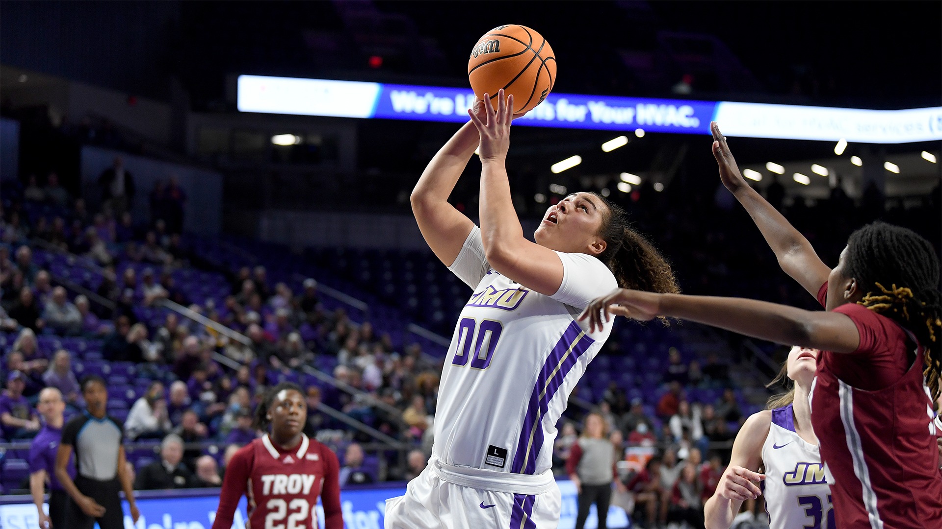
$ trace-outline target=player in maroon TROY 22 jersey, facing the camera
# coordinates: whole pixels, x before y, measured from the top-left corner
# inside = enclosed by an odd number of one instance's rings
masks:
[[[246,527],[317,529],[319,494],[325,529],[344,529],[340,464],[330,448],[301,432],[306,423],[307,403],[297,384],[268,390],[255,409],[255,428],[266,434],[240,448],[226,467],[213,529],[231,529],[243,494],[249,500]]]

